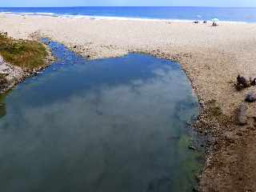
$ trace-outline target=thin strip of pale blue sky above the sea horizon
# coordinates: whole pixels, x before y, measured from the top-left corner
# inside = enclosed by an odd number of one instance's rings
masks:
[[[0,6],[246,6],[256,0],[0,0]]]

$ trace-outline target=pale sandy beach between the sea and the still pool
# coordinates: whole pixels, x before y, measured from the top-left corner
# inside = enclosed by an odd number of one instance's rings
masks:
[[[13,38],[51,38],[90,59],[143,52],[178,61],[202,105],[197,127],[209,138],[202,191],[255,191],[256,106],[238,126],[235,110],[255,87],[238,92],[238,74],[256,78],[256,24],[98,20],[0,14],[0,31]],[[214,103],[214,104],[213,104]],[[215,117],[210,107],[220,108]]]

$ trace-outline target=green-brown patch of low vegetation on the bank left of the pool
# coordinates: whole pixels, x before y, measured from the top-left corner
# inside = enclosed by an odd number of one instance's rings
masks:
[[[7,33],[0,33],[0,55],[23,70],[34,70],[46,65],[47,51],[40,42],[14,39]]]

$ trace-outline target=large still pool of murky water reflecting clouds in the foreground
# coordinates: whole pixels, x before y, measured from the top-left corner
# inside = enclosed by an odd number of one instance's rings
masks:
[[[2,95],[0,191],[191,191],[198,102],[178,64],[49,46],[58,61]]]

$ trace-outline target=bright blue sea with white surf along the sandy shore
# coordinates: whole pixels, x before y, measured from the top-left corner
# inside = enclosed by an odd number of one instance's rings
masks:
[[[256,8],[217,7],[33,7],[4,8],[2,13],[42,14],[84,18],[133,18],[168,20],[211,20],[226,22],[256,22]]]

